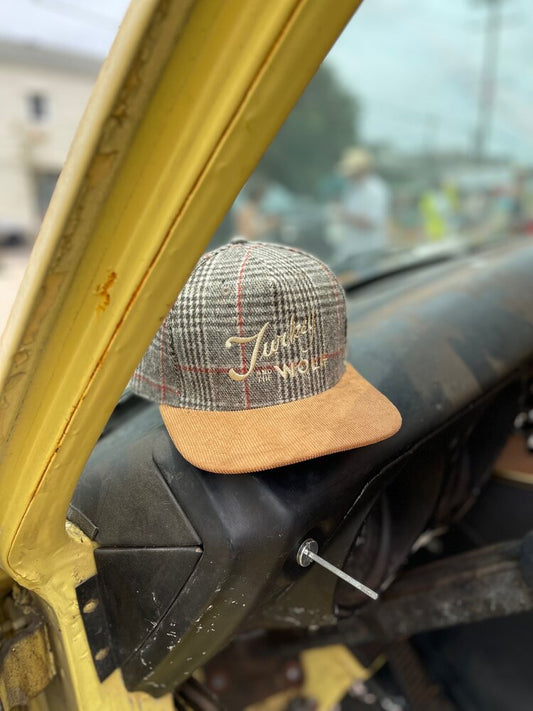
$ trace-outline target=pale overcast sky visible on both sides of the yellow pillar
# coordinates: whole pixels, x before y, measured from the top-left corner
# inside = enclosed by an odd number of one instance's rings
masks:
[[[0,34],[103,57],[127,5],[0,0]],[[485,18],[481,0],[365,0],[328,60],[360,100],[362,139],[469,149]],[[533,3],[504,0],[503,18],[488,151],[533,163]]]

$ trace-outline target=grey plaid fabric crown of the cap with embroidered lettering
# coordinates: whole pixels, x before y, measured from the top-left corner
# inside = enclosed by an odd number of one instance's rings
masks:
[[[305,252],[230,243],[205,254],[131,381],[150,400],[234,411],[316,395],[344,373],[346,304]]]

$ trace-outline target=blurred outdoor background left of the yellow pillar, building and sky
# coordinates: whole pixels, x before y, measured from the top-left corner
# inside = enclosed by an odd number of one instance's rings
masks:
[[[0,4],[0,334],[128,0]]]

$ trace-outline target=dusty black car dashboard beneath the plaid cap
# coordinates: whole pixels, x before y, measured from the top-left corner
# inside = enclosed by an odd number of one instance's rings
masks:
[[[159,696],[235,636],[331,628],[375,604],[298,566],[299,546],[313,538],[381,591],[422,532],[468,508],[530,376],[532,273],[518,240],[348,294],[349,359],[403,417],[380,444],[215,475],[179,455],[155,406],[123,400],[69,510],[98,544],[78,598],[101,678],[118,666]]]

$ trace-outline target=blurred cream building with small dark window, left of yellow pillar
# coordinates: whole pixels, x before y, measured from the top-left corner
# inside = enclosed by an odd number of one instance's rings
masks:
[[[34,240],[100,65],[0,40],[0,241]]]

